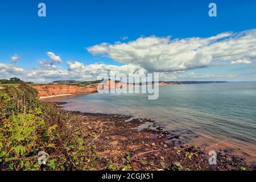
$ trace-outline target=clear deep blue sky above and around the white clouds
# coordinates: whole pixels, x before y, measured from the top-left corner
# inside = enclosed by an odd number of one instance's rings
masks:
[[[46,4],[47,17],[38,16],[40,2]],[[210,2],[217,5],[217,17],[208,16]],[[16,54],[21,59],[16,61],[15,67],[24,71],[39,69],[38,61],[49,59],[47,52],[53,52],[61,57],[62,63],[58,64],[61,69],[69,68],[66,63],[68,60],[77,61],[83,66],[94,63],[119,66],[137,64],[136,60],[126,63],[112,56],[102,56],[98,52],[94,52],[93,55],[92,51],[86,48],[101,43],[115,45],[118,41],[129,43],[141,36],[143,38],[152,35],[158,38],[171,36],[171,39],[209,38],[222,32],[238,33],[253,30],[256,28],[255,8],[256,1],[249,0],[1,1],[0,63],[10,64],[11,56]],[[122,40],[123,37],[127,39]],[[250,76],[256,75],[253,58],[250,57],[251,64],[186,68],[184,74],[193,72],[202,75],[200,79],[205,74],[249,75],[227,78],[227,80],[256,80],[256,76]],[[174,69],[168,69],[167,72],[173,71]],[[8,73],[6,77],[11,77],[12,72]],[[218,77],[215,80],[220,78],[225,77]],[[189,80],[183,77],[180,79]],[[205,79],[209,80],[209,77]]]

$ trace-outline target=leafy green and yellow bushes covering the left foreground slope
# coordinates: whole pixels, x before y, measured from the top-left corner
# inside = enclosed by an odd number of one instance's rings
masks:
[[[86,146],[79,118],[37,99],[26,84],[0,92],[1,170],[91,170],[98,158],[94,146]],[[46,165],[38,152],[45,151]],[[53,157],[55,156],[55,157]]]

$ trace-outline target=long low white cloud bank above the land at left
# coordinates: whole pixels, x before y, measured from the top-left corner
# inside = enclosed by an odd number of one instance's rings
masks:
[[[22,80],[33,82],[52,82],[55,80],[97,80],[102,73],[125,73],[142,75],[144,69],[137,65],[106,65],[106,64],[89,64],[85,65],[79,61],[67,61],[68,69],[56,68],[48,69],[40,67],[34,69],[22,69],[13,64],[0,63],[0,78],[19,77]]]

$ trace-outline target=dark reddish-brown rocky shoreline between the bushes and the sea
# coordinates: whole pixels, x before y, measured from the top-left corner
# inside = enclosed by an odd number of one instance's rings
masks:
[[[56,102],[58,106],[65,102]],[[95,133],[93,140],[98,155],[114,155],[114,169],[129,164],[133,170],[255,170],[234,155],[217,152],[217,165],[210,165],[210,156],[196,144],[178,146],[175,133],[163,131],[150,119],[133,119],[119,114],[93,114],[70,111],[81,118],[81,129]],[[141,128],[143,124],[148,127]],[[154,128],[154,129],[152,129]],[[104,162],[98,164],[104,170]],[[102,168],[101,168],[102,166]]]

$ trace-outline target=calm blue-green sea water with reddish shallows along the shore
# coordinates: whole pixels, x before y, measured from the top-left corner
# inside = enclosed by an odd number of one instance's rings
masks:
[[[230,136],[240,150],[256,154],[256,82],[160,86],[158,100],[97,93],[47,100],[70,102],[67,110],[151,118],[166,130],[191,134],[191,140],[193,134],[213,140]]]

